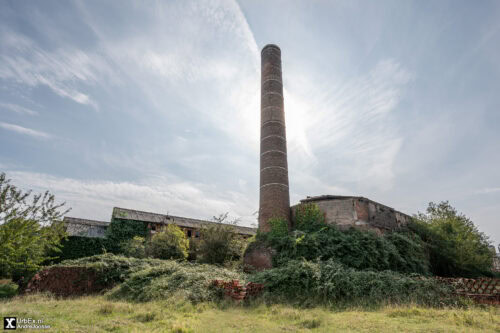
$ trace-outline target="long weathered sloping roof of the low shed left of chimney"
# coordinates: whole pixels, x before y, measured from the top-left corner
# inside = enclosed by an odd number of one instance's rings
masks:
[[[115,219],[124,219],[124,220],[135,220],[135,221],[143,221],[149,223],[160,223],[160,224],[168,224],[174,223],[180,227],[184,228],[195,228],[199,229],[204,225],[210,225],[217,222],[206,221],[206,220],[198,220],[191,219],[187,217],[174,216],[174,215],[165,215],[165,214],[157,214],[150,212],[143,212],[140,210],[126,209],[120,207],[113,208],[113,218]],[[231,225],[231,224],[228,224]],[[236,232],[242,235],[255,235],[257,233],[257,229],[235,226],[231,225],[235,228]]]

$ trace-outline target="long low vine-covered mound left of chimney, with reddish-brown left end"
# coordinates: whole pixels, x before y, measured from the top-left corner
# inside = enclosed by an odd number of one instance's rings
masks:
[[[219,290],[213,280],[244,280],[245,276],[225,268],[174,260],[136,259],[103,254],[66,260],[39,271],[26,292],[51,292],[78,296],[110,291],[112,298],[150,301],[182,296],[190,301],[214,300]]]

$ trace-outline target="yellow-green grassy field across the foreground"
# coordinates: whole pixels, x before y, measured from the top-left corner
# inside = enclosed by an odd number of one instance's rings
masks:
[[[232,303],[129,303],[104,296],[0,300],[0,316],[42,319],[57,332],[500,332],[500,308],[387,306],[368,311]],[[32,330],[30,330],[32,331]]]

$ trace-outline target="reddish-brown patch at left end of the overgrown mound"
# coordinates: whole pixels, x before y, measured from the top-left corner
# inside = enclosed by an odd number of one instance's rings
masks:
[[[24,293],[48,291],[58,296],[79,296],[99,293],[110,287],[110,283],[99,280],[92,268],[54,266],[35,274]]]

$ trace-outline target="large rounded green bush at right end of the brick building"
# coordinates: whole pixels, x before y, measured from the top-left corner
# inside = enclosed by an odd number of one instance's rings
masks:
[[[481,276],[492,267],[488,237],[447,201],[429,203],[410,229],[427,244],[431,271],[439,276]]]

